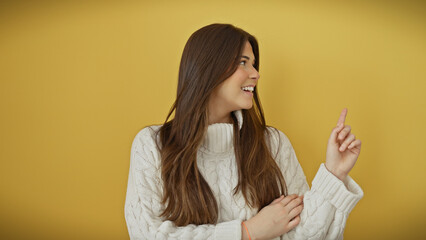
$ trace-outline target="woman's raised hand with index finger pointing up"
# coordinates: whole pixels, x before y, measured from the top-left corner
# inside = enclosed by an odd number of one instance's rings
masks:
[[[345,126],[347,112],[346,108],[342,110],[337,126],[331,132],[325,161],[328,171],[342,181],[355,165],[361,152],[361,140],[355,139],[350,126]]]

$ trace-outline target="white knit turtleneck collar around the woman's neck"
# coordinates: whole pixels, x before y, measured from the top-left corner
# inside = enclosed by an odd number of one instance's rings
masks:
[[[232,112],[238,121],[241,129],[243,125],[243,116],[241,110]],[[231,123],[214,123],[207,128],[206,136],[201,145],[212,153],[223,153],[234,147],[234,126]]]

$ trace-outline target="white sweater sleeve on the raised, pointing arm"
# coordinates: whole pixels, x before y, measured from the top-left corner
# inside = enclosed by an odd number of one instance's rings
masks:
[[[284,175],[288,194],[304,195],[304,209],[297,227],[281,236],[290,239],[343,239],[346,219],[364,193],[358,184],[347,177],[345,183],[330,173],[324,164],[312,181],[312,188],[297,160],[287,136],[278,131],[276,159]]]

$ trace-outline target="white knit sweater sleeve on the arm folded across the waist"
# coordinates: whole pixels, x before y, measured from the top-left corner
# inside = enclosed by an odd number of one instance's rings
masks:
[[[164,210],[160,157],[151,128],[142,129],[132,143],[125,201],[130,239],[241,239],[241,221],[177,227],[159,215]]]

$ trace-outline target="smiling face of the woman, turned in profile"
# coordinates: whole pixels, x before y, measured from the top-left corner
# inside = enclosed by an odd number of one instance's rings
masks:
[[[259,79],[254,68],[254,54],[249,42],[246,42],[237,70],[223,81],[212,93],[210,106],[221,111],[232,112],[250,109],[253,106],[253,91]]]

